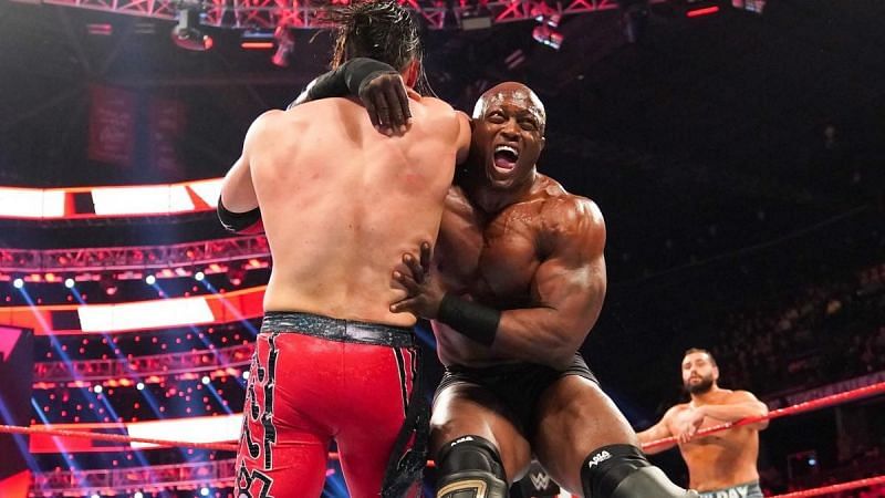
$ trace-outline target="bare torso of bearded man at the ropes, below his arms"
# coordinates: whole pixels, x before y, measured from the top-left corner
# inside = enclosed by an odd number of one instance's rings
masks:
[[[708,417],[701,428],[720,424],[721,421]],[[696,437],[680,444],[679,450],[688,467],[693,489],[708,491],[759,480],[759,432],[754,428],[736,427]]]

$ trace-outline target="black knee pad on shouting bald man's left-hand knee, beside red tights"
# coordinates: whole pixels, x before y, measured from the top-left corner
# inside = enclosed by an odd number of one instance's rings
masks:
[[[462,436],[436,458],[437,498],[507,498],[507,476],[498,449],[486,438]]]

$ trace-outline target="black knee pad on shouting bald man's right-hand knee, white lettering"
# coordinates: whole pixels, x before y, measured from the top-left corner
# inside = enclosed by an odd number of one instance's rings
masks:
[[[581,467],[585,498],[688,498],[694,491],[673,484],[639,448],[611,445],[592,452]]]

